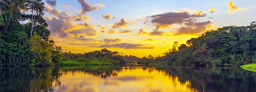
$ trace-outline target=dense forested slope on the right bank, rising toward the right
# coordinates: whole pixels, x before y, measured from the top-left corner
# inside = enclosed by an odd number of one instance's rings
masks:
[[[256,63],[256,23],[208,31],[191,38],[186,44],[178,47],[175,42],[173,48],[163,53],[164,56],[153,59],[175,65],[239,66]]]

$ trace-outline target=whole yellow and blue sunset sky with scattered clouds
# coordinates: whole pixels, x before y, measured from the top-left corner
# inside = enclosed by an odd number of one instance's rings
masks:
[[[107,48],[162,56],[176,41],[256,21],[256,0],[45,0],[45,19],[63,52]]]

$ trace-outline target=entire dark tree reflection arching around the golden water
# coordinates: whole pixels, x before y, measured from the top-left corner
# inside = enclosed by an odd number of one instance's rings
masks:
[[[137,67],[147,66],[147,67]],[[121,68],[122,67],[122,68]],[[158,67],[158,68],[156,68]],[[142,69],[145,72],[163,72],[174,86],[185,84],[205,92],[255,92],[256,72],[236,67],[189,68],[184,66],[60,66],[60,67],[2,67],[0,70],[0,91],[53,91],[61,85],[60,78],[68,72],[86,73],[95,77],[117,76],[122,70]],[[178,80],[178,81],[175,81]],[[254,89],[253,89],[254,88]]]

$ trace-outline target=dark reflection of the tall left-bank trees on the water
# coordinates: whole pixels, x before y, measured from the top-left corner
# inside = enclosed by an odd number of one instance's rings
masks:
[[[53,82],[60,85],[54,67],[3,67],[0,70],[0,91],[44,92],[53,90]]]

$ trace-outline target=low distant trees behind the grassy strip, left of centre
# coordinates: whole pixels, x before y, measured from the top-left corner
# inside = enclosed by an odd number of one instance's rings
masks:
[[[109,62],[112,64],[125,64],[126,61],[122,58],[121,55],[118,55],[117,51],[110,51],[106,48],[101,50],[96,50],[88,53],[71,53],[71,52],[64,52],[63,59],[64,61],[73,60],[78,62],[90,62],[90,61],[103,61]]]

